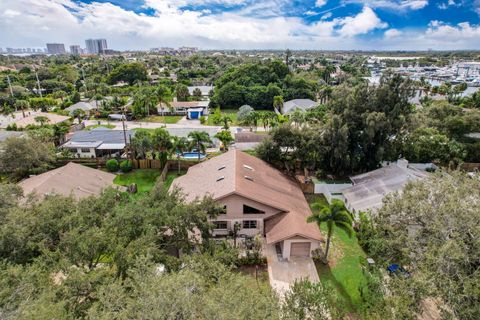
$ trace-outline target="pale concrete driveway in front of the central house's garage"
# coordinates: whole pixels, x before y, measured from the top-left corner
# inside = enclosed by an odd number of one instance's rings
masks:
[[[274,245],[265,245],[270,285],[282,298],[295,283],[295,280],[306,278],[318,282],[317,269],[312,258],[294,257],[289,261],[278,261]]]

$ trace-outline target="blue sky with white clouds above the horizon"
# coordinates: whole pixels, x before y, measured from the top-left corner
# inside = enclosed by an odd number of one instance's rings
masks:
[[[480,49],[480,0],[0,1],[0,47],[91,37],[114,49]]]

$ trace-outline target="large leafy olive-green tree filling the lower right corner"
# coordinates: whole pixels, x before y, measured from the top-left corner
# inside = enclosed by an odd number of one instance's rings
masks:
[[[385,284],[395,311],[411,314],[429,297],[447,318],[479,317],[479,190],[479,180],[463,172],[440,172],[389,195],[372,217],[368,254],[411,272]]]

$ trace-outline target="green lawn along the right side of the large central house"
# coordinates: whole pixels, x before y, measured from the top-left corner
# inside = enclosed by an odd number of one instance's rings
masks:
[[[315,201],[327,203],[325,197],[318,195],[307,196],[307,200],[310,205]],[[325,224],[321,230],[324,235],[327,234]],[[320,281],[336,288],[340,302],[338,308],[347,313],[356,313],[361,304],[359,287],[366,283],[361,264],[366,255],[355,235],[349,238],[345,231],[336,227],[330,248],[328,265],[316,263]]]

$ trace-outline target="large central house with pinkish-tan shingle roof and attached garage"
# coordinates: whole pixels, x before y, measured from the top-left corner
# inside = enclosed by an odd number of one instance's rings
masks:
[[[297,183],[266,162],[239,150],[191,167],[172,184],[187,201],[211,195],[225,213],[213,224],[226,236],[235,224],[239,234],[265,236],[283,258],[310,256],[323,241],[317,225],[307,223],[310,207]]]

